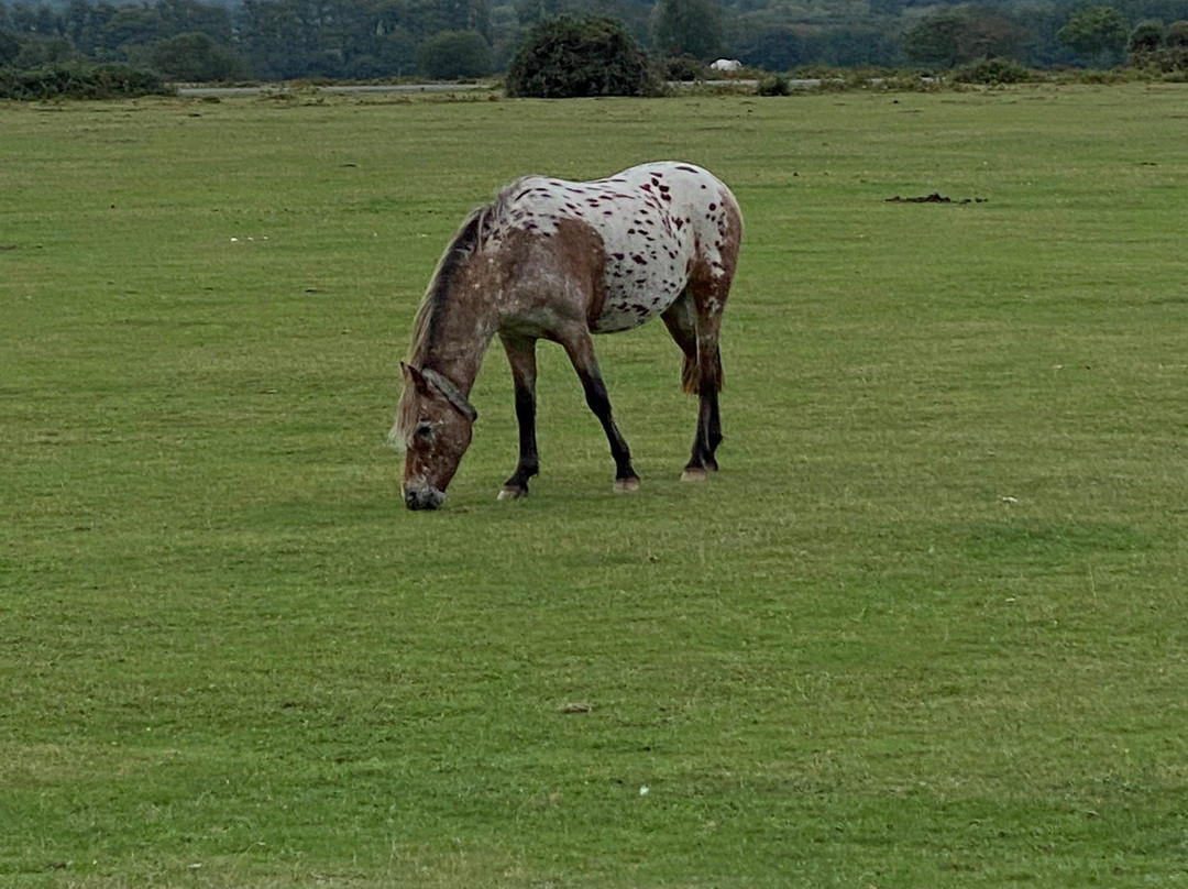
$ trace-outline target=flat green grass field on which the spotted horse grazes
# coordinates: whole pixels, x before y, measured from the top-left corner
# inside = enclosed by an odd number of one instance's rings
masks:
[[[0,106],[0,885],[1188,885],[1186,144],[1183,86]],[[542,347],[531,498],[497,351],[406,512],[463,214],[655,158],[746,215],[722,472],[656,324],[638,494]]]

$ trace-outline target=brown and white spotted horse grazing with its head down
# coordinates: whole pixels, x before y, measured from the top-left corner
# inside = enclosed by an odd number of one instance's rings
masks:
[[[561,343],[602,423],[615,491],[639,487],[611,415],[590,334],[659,315],[684,353],[682,386],[700,398],[682,478],[715,471],[722,440],[718,334],[742,238],[734,195],[693,164],[633,166],[596,182],[526,176],[470,214],[447,247],[417,313],[404,392],[388,442],[405,453],[404,502],[436,509],[470,444],[468,399],[498,334],[511,362],[519,465],[499,499],[527,496],[537,474],[536,341]]]

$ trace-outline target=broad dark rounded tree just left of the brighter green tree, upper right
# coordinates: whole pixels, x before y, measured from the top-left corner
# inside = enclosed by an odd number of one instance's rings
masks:
[[[917,65],[953,68],[979,58],[1015,57],[1023,30],[997,13],[949,8],[921,19],[904,34],[908,61]]]

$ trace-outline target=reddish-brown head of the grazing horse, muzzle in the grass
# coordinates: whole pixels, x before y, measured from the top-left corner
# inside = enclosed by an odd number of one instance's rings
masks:
[[[449,379],[402,364],[404,393],[388,443],[404,450],[404,505],[435,510],[446,499],[478,412]]]

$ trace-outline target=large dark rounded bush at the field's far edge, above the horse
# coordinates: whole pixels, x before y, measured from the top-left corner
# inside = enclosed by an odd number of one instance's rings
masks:
[[[594,17],[538,23],[507,70],[513,96],[634,96],[653,88],[634,38],[618,21]]]

